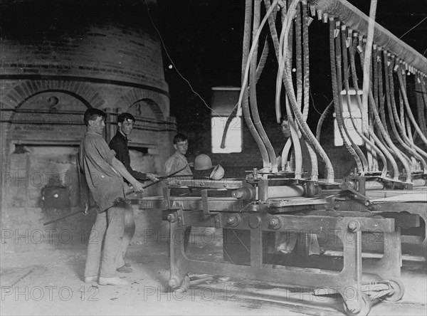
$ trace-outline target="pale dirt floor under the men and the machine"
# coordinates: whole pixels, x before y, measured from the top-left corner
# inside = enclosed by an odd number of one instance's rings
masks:
[[[193,258],[218,256],[218,245],[193,245]],[[132,273],[122,288],[85,284],[85,245],[1,253],[1,315],[345,315],[338,297],[251,280],[205,280],[172,293],[166,243],[132,245]],[[369,315],[427,315],[426,262],[404,260],[406,293],[376,301]]]

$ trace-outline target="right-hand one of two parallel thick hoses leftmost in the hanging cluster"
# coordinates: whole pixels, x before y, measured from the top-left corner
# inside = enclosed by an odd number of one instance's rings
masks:
[[[273,10],[272,10],[273,11]],[[264,19],[264,22],[266,19]],[[257,59],[258,59],[258,41],[257,38],[255,38],[255,33],[258,31],[258,28],[260,28],[260,2],[255,1],[254,2],[254,12],[253,12],[253,55],[251,60],[251,69],[250,69],[250,75],[249,75],[249,95],[250,95],[250,104],[251,104],[251,114],[253,117],[253,125],[255,125],[255,128],[258,132],[258,135],[260,135],[261,139],[263,140],[263,144],[268,152],[268,159],[270,161],[270,166],[264,166],[264,167],[272,167],[272,172],[278,172],[278,162],[275,158],[275,151],[273,148],[273,145],[270,142],[270,139],[268,139],[267,134],[265,133],[265,130],[263,128],[263,124],[260,121],[260,115],[258,112],[258,102],[256,97],[256,65],[257,65]]]

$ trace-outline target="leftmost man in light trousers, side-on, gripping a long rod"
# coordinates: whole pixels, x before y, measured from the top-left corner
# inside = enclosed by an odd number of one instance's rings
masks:
[[[125,206],[117,201],[125,198],[123,177],[135,192],[144,191],[144,187],[115,158],[114,150],[102,137],[105,117],[102,110],[86,110],[86,133],[78,151],[78,171],[83,174],[83,185],[89,189],[97,208],[95,223],[90,231],[84,276],[85,283],[98,280],[100,285],[120,286],[128,284],[116,275],[117,253],[125,231]],[[82,191],[83,201],[88,204],[89,194]]]

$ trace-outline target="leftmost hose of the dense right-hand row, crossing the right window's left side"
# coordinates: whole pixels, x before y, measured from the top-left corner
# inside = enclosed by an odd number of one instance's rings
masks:
[[[341,58],[339,54],[335,53],[335,47],[334,44],[334,33],[335,33],[335,21],[334,19],[330,19],[330,60],[331,60],[331,78],[332,78],[332,96],[334,98],[334,112],[335,117],[337,119],[337,125],[338,125],[338,131],[339,135],[342,138],[342,142],[344,143],[345,147],[349,151],[350,154],[352,154],[354,161],[357,164],[357,169],[359,172],[363,172],[362,162],[357,156],[356,152],[354,151],[353,147],[349,145],[347,142],[348,135],[346,134],[344,136],[343,127],[342,127],[342,115],[339,111],[339,108],[342,105],[341,94],[338,91],[338,87],[341,87],[341,82],[338,83],[338,80],[341,80],[341,69],[339,69],[339,72],[337,71],[337,66],[339,65],[339,68],[341,66]],[[344,131],[347,131],[344,129]]]

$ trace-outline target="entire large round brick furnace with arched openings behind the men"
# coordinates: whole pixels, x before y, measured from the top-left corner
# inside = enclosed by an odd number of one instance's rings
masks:
[[[147,2],[155,9],[156,1]],[[162,172],[176,122],[169,117],[162,50],[145,1],[65,0],[58,6],[44,0],[19,1],[2,6],[2,16],[1,228],[13,234],[28,231],[29,244],[17,245],[9,238],[4,245],[24,249],[34,246],[31,232],[48,233],[43,222],[80,207],[75,201],[75,153],[85,133],[83,113],[88,107],[109,113],[106,138],[115,135],[118,113],[135,115],[130,146],[135,159],[141,159],[136,165],[142,172]],[[46,211],[41,202],[46,185],[40,185],[36,175],[66,172],[73,179],[67,186],[69,207]],[[149,194],[160,193],[156,186],[150,189]],[[137,226],[144,228],[148,222]],[[77,235],[82,229],[88,233],[92,223],[93,216],[75,216],[48,229],[58,228],[56,234],[69,229]],[[50,239],[45,236],[43,244]]]

